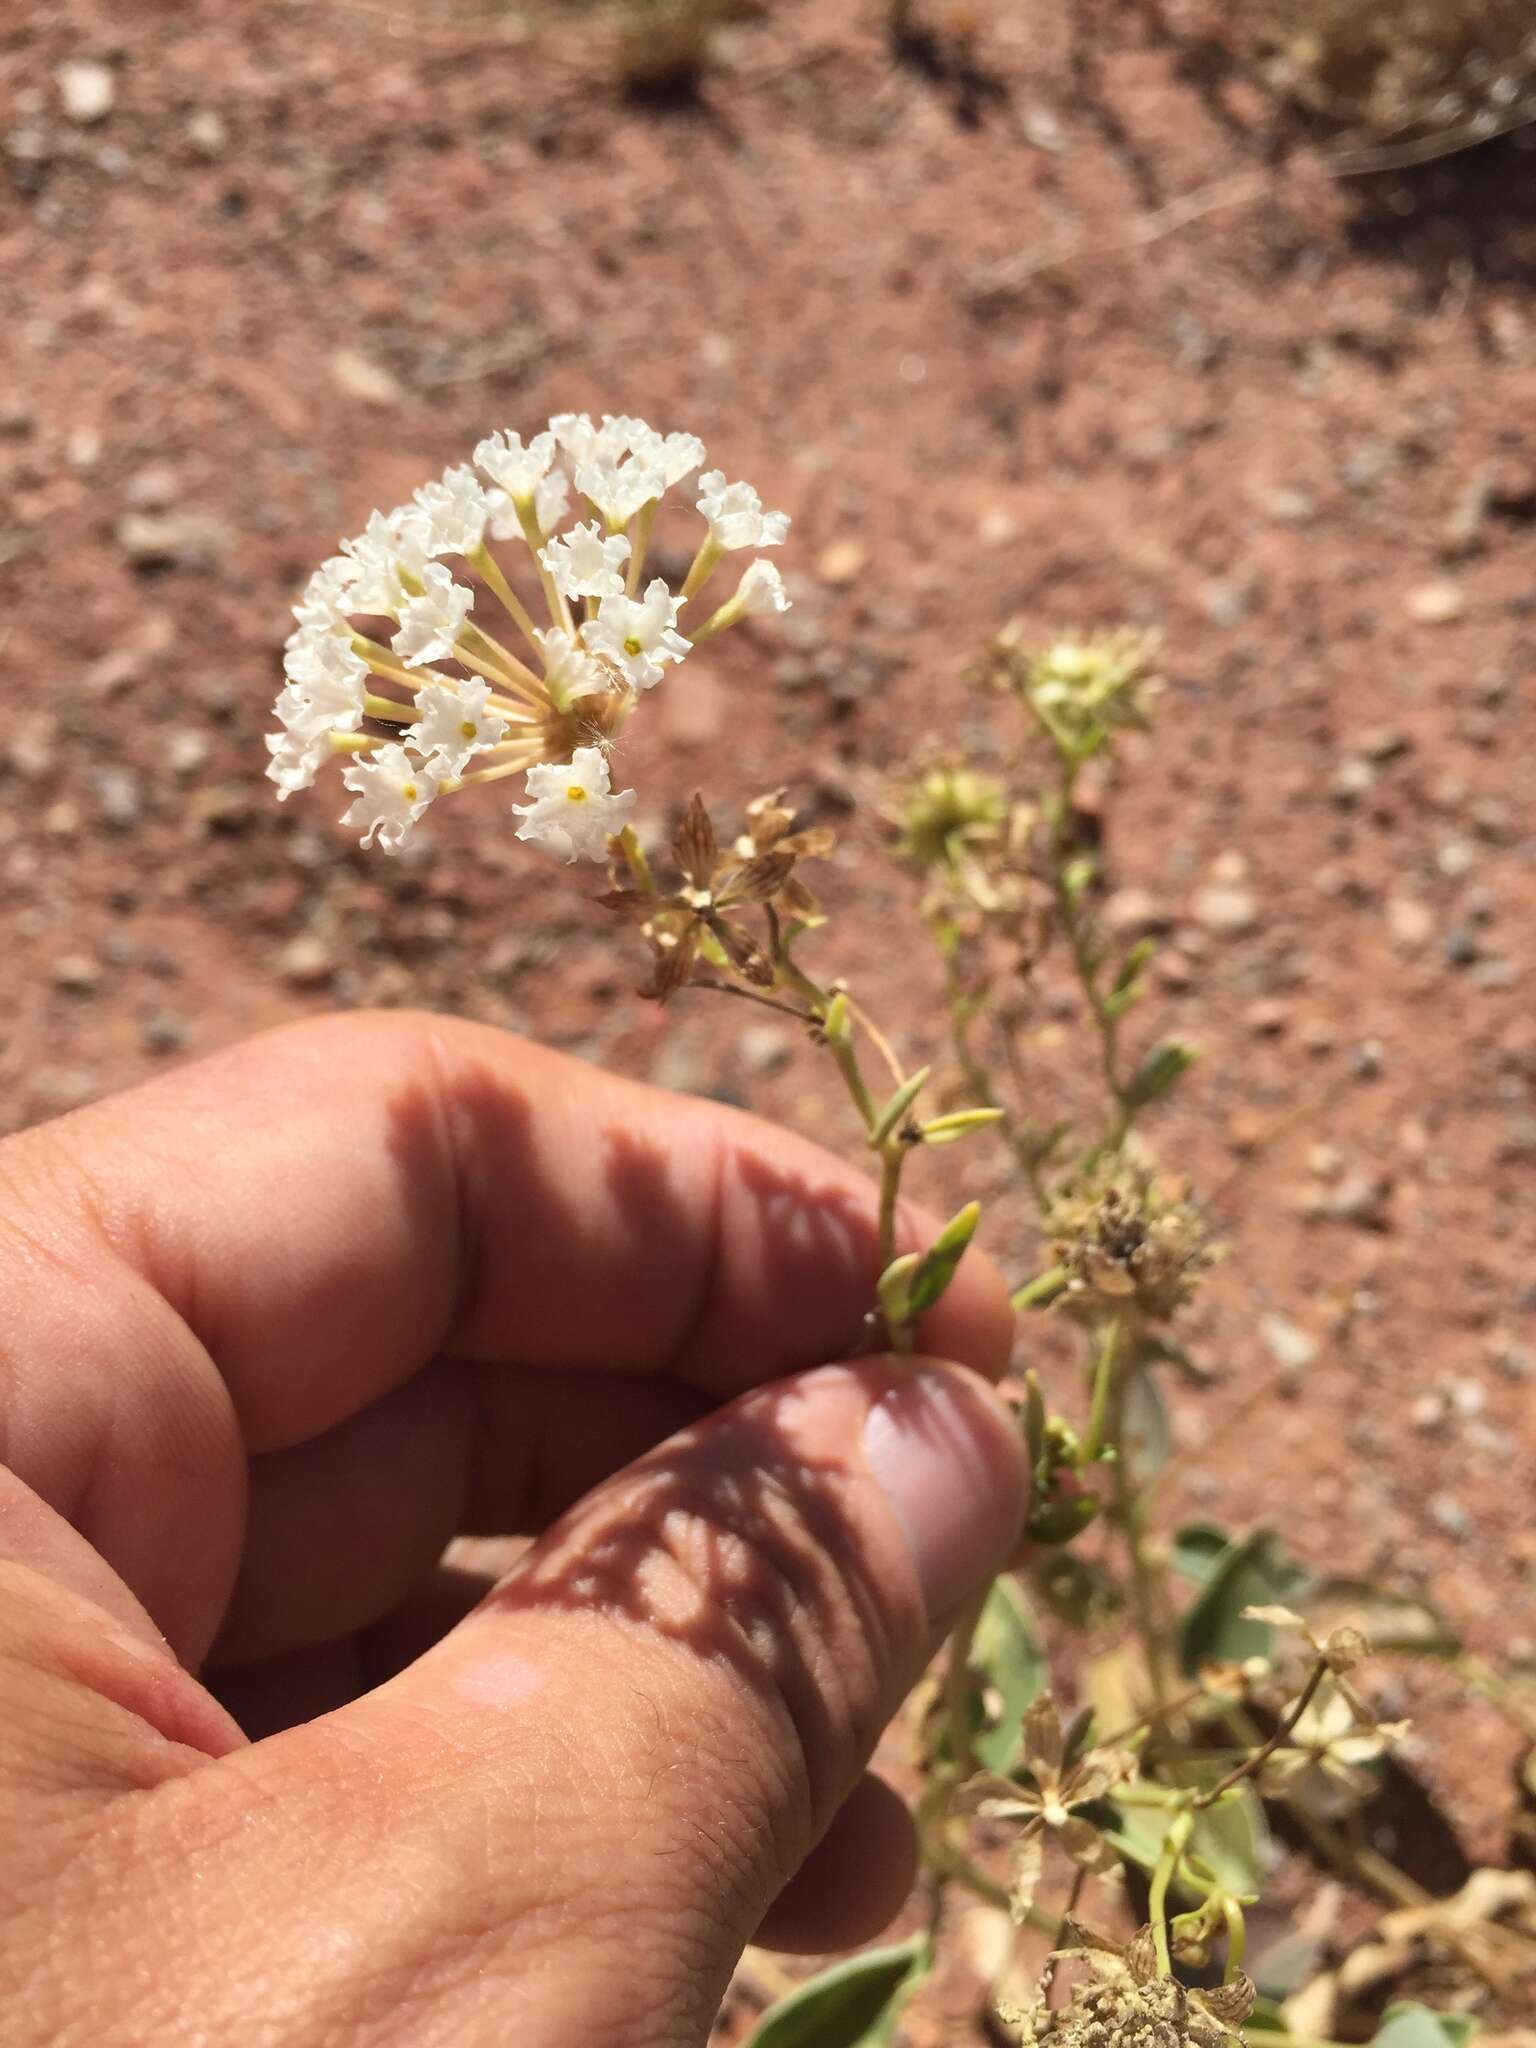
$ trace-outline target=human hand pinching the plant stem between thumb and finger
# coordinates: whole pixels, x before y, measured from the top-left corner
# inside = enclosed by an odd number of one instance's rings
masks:
[[[872,1268],[815,1147],[436,1018],[6,1141],[10,2048],[696,2048],[754,1935],[874,1933],[860,1774],[1026,1477],[823,1364]],[[922,1337],[1008,1325],[969,1257]]]

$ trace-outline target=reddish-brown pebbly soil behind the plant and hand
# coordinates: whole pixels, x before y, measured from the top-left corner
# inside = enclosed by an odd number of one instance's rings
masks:
[[[1133,4],[895,51],[872,0],[786,0],[694,96],[504,27],[6,8],[0,1116],[422,1004],[852,1139],[784,1020],[639,1001],[494,793],[391,864],[334,782],[260,778],[287,606],[373,506],[555,410],[694,430],[795,516],[797,610],[659,690],[627,780],[655,831],[778,782],[844,827],[819,958],[911,1061],[944,1024],[885,778],[1008,745],[963,682],[1008,616],[1163,629],[1106,915],[1165,936],[1137,1030],[1204,1059],[1149,1128],[1231,1247],[1171,1511],[1530,1655],[1536,152],[1335,176]],[[1071,1106],[1065,1014],[1032,1051]],[[983,1147],[924,1171],[1034,1270]],[[1513,1739],[1434,1673],[1415,1712],[1493,1851]]]

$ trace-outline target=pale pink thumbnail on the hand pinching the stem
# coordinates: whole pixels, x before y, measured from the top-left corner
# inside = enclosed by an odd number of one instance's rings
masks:
[[[924,1364],[868,1411],[864,1462],[907,1538],[928,1618],[940,1620],[1018,1542],[1028,1493],[1020,1432],[981,1380]]]

